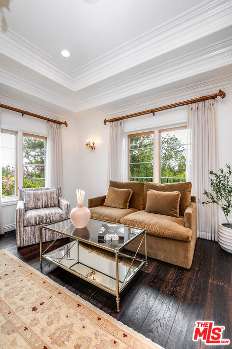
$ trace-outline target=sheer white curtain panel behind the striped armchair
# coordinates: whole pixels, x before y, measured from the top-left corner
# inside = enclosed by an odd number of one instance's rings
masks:
[[[62,182],[61,126],[47,122],[46,187],[59,187]]]

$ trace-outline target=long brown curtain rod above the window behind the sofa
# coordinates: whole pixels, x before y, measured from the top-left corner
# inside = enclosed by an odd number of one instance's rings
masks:
[[[105,119],[104,124],[106,125],[107,122],[114,122],[114,121],[119,121],[119,120],[131,119],[132,117],[146,115],[146,114],[150,114],[150,113],[155,115],[156,111],[164,111],[164,110],[168,110],[168,109],[172,109],[172,108],[177,108],[177,107],[181,107],[181,106],[192,104],[192,103],[202,102],[202,101],[207,100],[207,99],[216,99],[218,96],[220,96],[221,98],[225,98],[226,94],[224,91],[219,90],[217,94],[206,95],[206,96],[202,96],[199,98],[189,99],[187,101],[169,104],[167,106],[158,107],[155,109],[149,109],[147,111],[139,111],[139,112],[134,113],[134,114],[120,116],[120,117],[113,118],[113,119],[108,119],[108,120]]]

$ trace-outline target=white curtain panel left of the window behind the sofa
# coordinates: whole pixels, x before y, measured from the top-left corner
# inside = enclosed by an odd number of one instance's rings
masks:
[[[123,180],[123,121],[110,123],[108,179]]]

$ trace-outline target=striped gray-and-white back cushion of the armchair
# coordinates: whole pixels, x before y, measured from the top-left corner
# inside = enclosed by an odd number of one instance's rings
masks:
[[[25,211],[45,207],[58,207],[57,190],[25,190],[24,205]]]

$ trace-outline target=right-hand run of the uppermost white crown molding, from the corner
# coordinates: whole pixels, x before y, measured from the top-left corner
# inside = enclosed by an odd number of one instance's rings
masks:
[[[205,0],[74,72],[74,89],[92,85],[232,25],[231,0]]]

